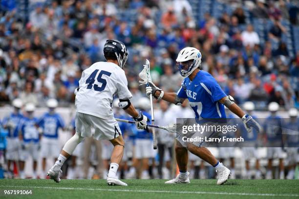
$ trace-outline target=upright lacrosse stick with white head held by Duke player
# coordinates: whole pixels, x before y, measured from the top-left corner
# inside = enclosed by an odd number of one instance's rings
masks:
[[[151,81],[150,72],[149,72],[149,60],[146,60],[146,64],[143,65],[144,68],[139,73],[139,78],[142,81],[139,81],[142,84],[147,84],[149,86],[149,81]],[[150,112],[151,112],[151,124],[155,124],[154,114],[153,114],[153,104],[152,104],[152,95],[149,96],[150,100]],[[153,137],[153,149],[157,149],[157,143],[156,143],[156,132],[155,128],[152,128],[152,137]]]

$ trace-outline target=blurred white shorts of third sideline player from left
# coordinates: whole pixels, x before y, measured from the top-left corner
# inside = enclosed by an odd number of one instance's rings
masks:
[[[41,141],[42,158],[58,158],[60,153],[59,141],[57,138],[43,137]]]

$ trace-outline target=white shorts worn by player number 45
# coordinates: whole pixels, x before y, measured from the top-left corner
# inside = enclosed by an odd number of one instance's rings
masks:
[[[82,137],[90,138],[92,136],[91,127],[95,129],[94,139],[115,139],[122,135],[115,118],[107,120],[98,118],[85,113],[76,112],[76,132]]]

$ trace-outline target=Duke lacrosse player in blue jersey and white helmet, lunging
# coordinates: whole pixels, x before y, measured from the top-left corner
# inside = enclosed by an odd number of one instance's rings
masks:
[[[227,96],[220,88],[217,81],[206,71],[200,70],[201,53],[193,47],[183,48],[176,59],[178,70],[185,79],[177,93],[166,93],[155,86],[152,82],[147,87],[147,95],[153,95],[157,99],[163,99],[174,104],[181,104],[188,99],[194,110],[195,119],[218,119],[226,118],[224,106],[230,109],[242,121],[247,131],[252,128],[261,131],[260,125],[249,115],[246,115],[241,108],[235,104],[231,96]],[[165,183],[190,183],[187,171],[188,150],[214,166],[216,171],[217,184],[227,181],[231,171],[223,166],[206,148],[199,142],[184,142],[177,138],[175,146],[176,161],[180,173],[175,179]]]

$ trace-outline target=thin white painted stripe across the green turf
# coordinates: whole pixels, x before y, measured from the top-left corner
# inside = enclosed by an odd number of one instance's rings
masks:
[[[258,193],[229,193],[229,192],[205,192],[205,191],[158,191],[158,190],[129,190],[129,189],[94,189],[72,187],[41,187],[41,186],[4,186],[13,188],[36,188],[36,189],[62,189],[62,190],[87,190],[87,191],[118,191],[118,192],[147,192],[147,193],[170,193],[170,194],[213,194],[213,195],[236,195],[236,196],[273,196],[273,197],[299,197],[298,194],[258,194]]]

